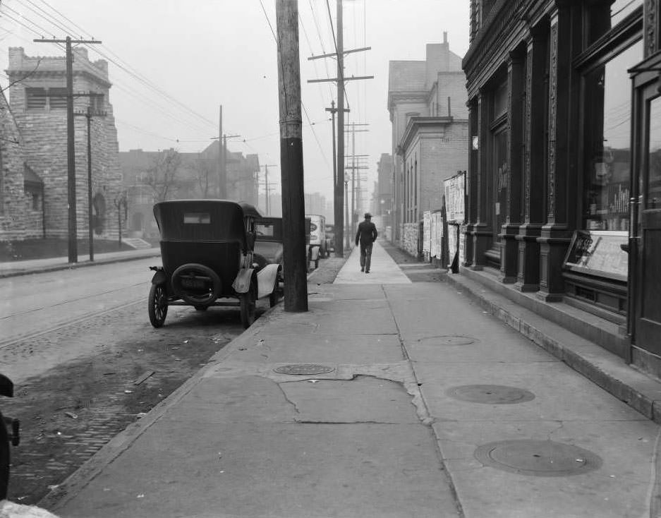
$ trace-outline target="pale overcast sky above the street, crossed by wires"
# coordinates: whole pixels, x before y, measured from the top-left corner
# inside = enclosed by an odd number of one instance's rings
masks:
[[[468,49],[468,0],[344,0],[344,48],[348,54],[347,122],[369,124],[356,133],[356,155],[369,155],[363,171],[370,191],[381,153],[391,150],[387,110],[388,62],[425,59],[425,44],[447,31],[452,52]],[[299,0],[301,96],[305,191],[332,197],[332,132],[325,112],[336,100],[335,83],[308,84],[336,76],[335,0]],[[35,37],[94,37],[90,59],[109,62],[110,101],[119,149],[202,150],[218,135],[219,106],[231,151],[257,153],[261,164],[280,162],[275,0],[1,0],[0,87],[6,87],[8,47],[29,56],[63,55]],[[13,19],[12,19],[13,18]],[[270,24],[270,26],[269,26]],[[271,29],[272,27],[272,29]],[[30,28],[30,29],[28,29]],[[351,154],[348,142],[346,154]],[[263,171],[263,169],[262,169]],[[269,167],[269,182],[279,167]]]

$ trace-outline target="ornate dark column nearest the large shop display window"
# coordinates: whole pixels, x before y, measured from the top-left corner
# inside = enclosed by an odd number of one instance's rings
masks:
[[[537,295],[544,301],[560,301],[564,296],[562,261],[572,233],[568,226],[567,179],[576,175],[576,156],[570,150],[572,136],[569,130],[575,131],[576,128],[571,110],[576,110],[574,101],[578,100],[578,96],[571,61],[580,50],[581,20],[579,11],[571,1],[556,0],[555,4],[550,16],[549,37],[547,223],[538,238],[540,289]],[[573,138],[576,138],[575,134]],[[573,196],[576,197],[575,192]]]

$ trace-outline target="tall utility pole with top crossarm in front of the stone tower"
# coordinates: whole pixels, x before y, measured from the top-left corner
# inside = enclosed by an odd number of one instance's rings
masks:
[[[75,212],[75,126],[73,124],[73,54],[72,43],[101,43],[99,40],[33,40],[37,43],[66,44],[66,163],[68,203],[68,261],[78,263],[78,228]]]

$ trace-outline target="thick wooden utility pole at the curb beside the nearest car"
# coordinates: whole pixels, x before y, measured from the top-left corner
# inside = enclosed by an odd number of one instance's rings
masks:
[[[284,311],[308,311],[305,251],[301,68],[298,62],[298,0],[276,0],[280,171],[284,263]]]

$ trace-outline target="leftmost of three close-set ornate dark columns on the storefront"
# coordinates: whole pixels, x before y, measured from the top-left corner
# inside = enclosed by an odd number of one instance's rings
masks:
[[[516,234],[521,225],[521,156],[523,146],[523,64],[525,53],[510,52],[507,63],[507,205],[500,239],[500,281],[516,282],[519,247]]]

